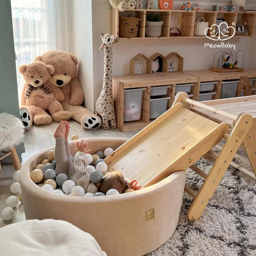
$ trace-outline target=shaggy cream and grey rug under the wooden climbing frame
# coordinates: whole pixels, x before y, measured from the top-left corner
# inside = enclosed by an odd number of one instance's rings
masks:
[[[240,153],[244,154],[243,151]],[[212,163],[200,159],[196,166],[209,172]],[[198,190],[203,179],[192,170],[188,170],[186,182],[193,190]],[[204,214],[194,222],[190,222],[186,217],[192,202],[193,199],[185,193],[177,230],[165,244],[148,256],[256,255],[254,178],[229,167]]]

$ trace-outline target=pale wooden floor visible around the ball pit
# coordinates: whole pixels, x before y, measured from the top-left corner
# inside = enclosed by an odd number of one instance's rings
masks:
[[[44,148],[53,146],[55,143],[54,140],[54,131],[58,126],[57,122],[52,122],[49,126],[32,126],[30,130],[25,132],[25,153],[22,154],[22,164],[26,162],[33,154],[38,153]],[[85,130],[82,129],[81,125],[76,121],[70,121],[70,136],[71,140],[72,135],[78,135],[79,138],[89,138],[89,137],[123,137],[130,138],[135,135],[138,130],[133,130],[130,132],[121,132],[118,129],[108,129],[104,130],[102,128],[97,130]],[[12,175],[15,170],[14,167],[9,164],[10,159],[7,159],[7,162],[2,164],[2,172],[0,172],[0,217],[1,212],[4,207],[6,207],[6,199],[8,196],[17,194],[12,194],[10,192],[10,185],[14,182]],[[9,223],[20,222],[25,220],[25,214],[23,210],[23,205],[18,204],[18,209],[15,209],[15,217],[10,221],[5,221],[4,225]],[[1,226],[1,223],[0,223]]]

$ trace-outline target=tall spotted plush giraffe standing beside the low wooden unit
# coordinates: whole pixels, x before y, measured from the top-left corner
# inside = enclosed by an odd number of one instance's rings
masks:
[[[102,117],[103,129],[116,128],[116,115],[114,113],[114,100],[112,95],[112,46],[119,41],[117,36],[101,34],[102,45],[105,46],[103,88],[95,103],[95,112]]]

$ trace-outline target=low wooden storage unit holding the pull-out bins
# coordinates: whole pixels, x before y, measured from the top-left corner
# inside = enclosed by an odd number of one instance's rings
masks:
[[[217,73],[210,70],[200,71],[175,71],[171,73],[154,73],[154,74],[137,74],[116,76],[112,80],[114,106],[116,111],[116,122],[118,129],[122,132],[128,130],[143,129],[150,124],[150,91],[152,86],[171,86],[166,96],[171,97],[168,101],[167,108],[170,108],[174,102],[175,87],[177,84],[191,84],[190,94],[193,95],[193,100],[199,100],[200,83],[209,81],[218,81],[215,84],[214,91],[216,94],[213,99],[220,98],[222,90],[222,81],[239,79],[241,76],[248,78],[256,78],[256,71],[246,70],[244,72]],[[124,122],[124,89],[146,88],[143,91],[142,100],[142,116],[138,121]]]

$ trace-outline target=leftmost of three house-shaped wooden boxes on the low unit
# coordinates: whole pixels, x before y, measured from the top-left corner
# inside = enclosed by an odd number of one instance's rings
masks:
[[[130,74],[151,74],[152,60],[143,54],[137,54],[130,60]]]

